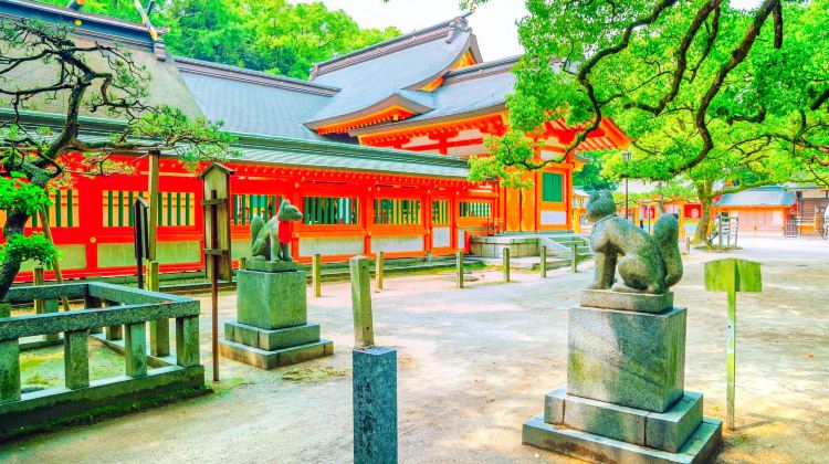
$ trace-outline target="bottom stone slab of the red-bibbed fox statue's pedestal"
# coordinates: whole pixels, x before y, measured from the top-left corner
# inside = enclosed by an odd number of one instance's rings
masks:
[[[321,339],[312,344],[267,351],[230,341],[225,338],[220,338],[219,354],[225,358],[244,362],[260,369],[274,369],[282,366],[290,366],[322,358],[324,356],[332,356],[334,355],[334,342]]]

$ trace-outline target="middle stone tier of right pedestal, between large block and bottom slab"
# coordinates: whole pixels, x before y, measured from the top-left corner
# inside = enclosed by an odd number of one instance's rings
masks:
[[[665,412],[569,396],[565,387],[544,399],[546,423],[670,453],[679,452],[702,420],[702,394],[690,391]]]

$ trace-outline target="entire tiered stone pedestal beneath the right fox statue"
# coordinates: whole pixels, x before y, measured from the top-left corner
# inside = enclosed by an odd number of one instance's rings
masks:
[[[583,292],[568,317],[567,384],[524,423],[524,443],[592,462],[711,460],[722,422],[684,390],[685,315],[670,293]]]

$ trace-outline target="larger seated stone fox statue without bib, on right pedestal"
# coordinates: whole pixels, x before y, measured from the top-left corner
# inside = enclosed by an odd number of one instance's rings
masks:
[[[590,196],[587,217],[595,223],[590,246],[596,254],[596,274],[589,288],[660,294],[682,277],[675,215],[662,215],[650,235],[616,215],[612,194],[601,191]],[[616,270],[623,284],[613,285]]]

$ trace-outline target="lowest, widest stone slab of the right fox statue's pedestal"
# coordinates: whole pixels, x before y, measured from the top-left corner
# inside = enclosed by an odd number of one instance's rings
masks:
[[[704,418],[676,453],[548,424],[543,413],[524,422],[522,436],[524,444],[594,463],[688,464],[713,460],[723,441],[723,423]]]

